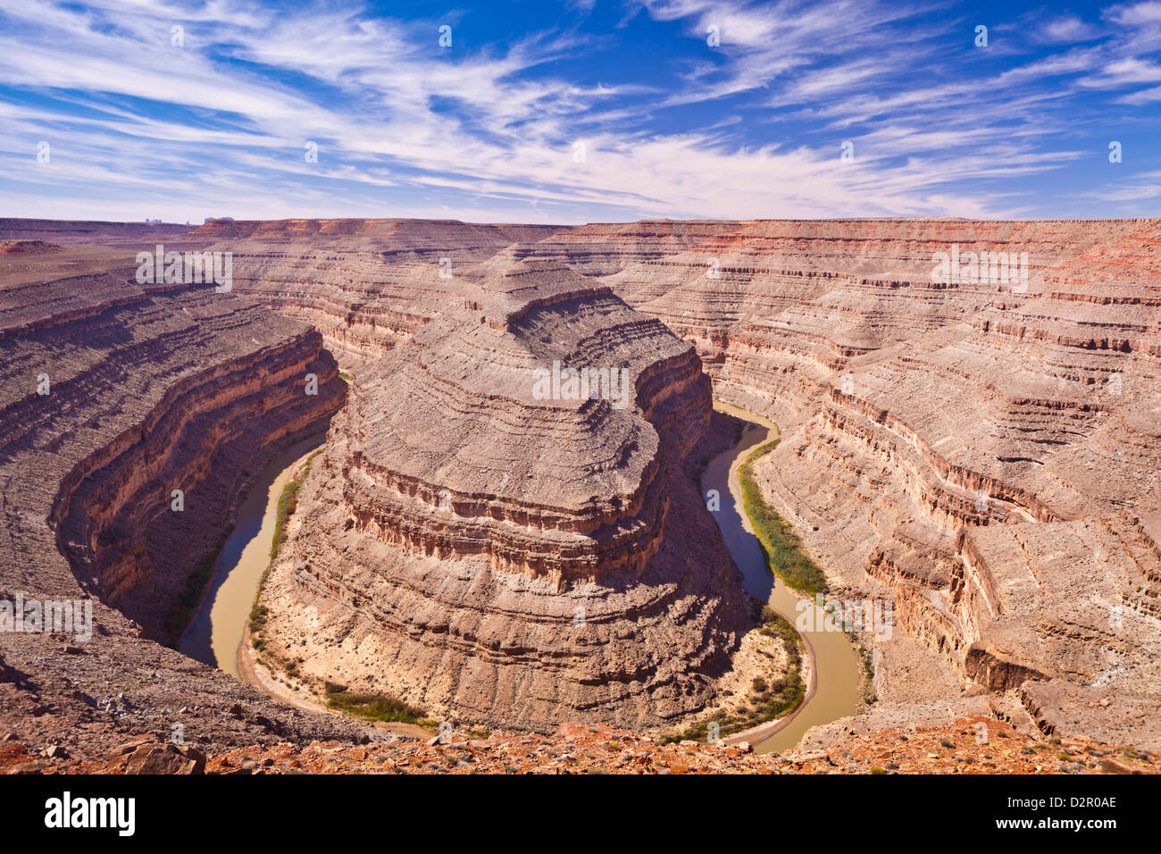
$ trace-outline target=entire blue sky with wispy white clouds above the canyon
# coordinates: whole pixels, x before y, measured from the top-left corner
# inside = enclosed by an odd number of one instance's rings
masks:
[[[0,216],[1158,215],[1159,0],[0,0]]]

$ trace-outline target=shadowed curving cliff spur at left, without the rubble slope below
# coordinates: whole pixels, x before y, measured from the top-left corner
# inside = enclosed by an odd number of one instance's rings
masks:
[[[81,584],[170,639],[166,604],[212,557],[241,486],[269,448],[325,430],[345,385],[318,332],[212,286],[131,274],[6,292],[19,325],[3,336],[0,423],[8,448],[67,461],[46,483],[49,522]]]

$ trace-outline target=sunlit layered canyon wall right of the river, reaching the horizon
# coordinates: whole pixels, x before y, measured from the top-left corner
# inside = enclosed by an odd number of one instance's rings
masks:
[[[454,224],[424,230],[426,254],[385,260],[413,238],[381,235],[383,271],[337,286],[340,360],[382,350],[348,357],[352,336],[394,346],[438,316],[454,293],[440,258],[469,281],[567,266],[694,344],[716,396],[783,426],[758,466],[767,500],[836,594],[894,604],[902,631],[866,638],[886,702],[982,688],[1046,730],[1161,711],[1159,221],[592,224],[491,258],[457,253]],[[1026,253],[1027,275],[938,280],[938,252]],[[295,299],[280,275],[244,287]]]

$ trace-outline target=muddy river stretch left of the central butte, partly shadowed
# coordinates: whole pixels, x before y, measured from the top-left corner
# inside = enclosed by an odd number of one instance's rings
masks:
[[[315,436],[275,454],[251,483],[238,507],[233,531],[214,565],[201,610],[178,644],[186,655],[238,675],[238,646],[271,560],[279,496],[298,462],[320,447],[325,438]]]

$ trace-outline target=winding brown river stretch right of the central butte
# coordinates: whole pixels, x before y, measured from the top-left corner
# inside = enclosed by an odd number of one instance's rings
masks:
[[[742,511],[742,489],[738,485],[737,467],[750,450],[774,436],[778,426],[759,415],[748,412],[727,403],[715,402],[714,408],[742,418],[745,426],[742,440],[724,453],[715,457],[701,476],[702,491],[716,489],[721,496],[721,508],[714,512],[717,526],[726,539],[726,546],[734,555],[734,562],[742,570],[742,586],[747,593],[767,602],[795,625],[800,616],[809,617],[808,625],[824,625],[810,600],[803,600],[766,566],[766,555],[753,536],[750,521]],[[800,603],[803,603],[800,605]],[[802,608],[807,610],[803,611]],[[802,733],[812,726],[829,724],[831,720],[858,713],[858,656],[842,631],[800,631],[813,658],[813,692],[808,688],[806,702],[796,713],[779,725],[770,734],[755,744],[757,753],[778,753],[789,749]],[[766,727],[760,727],[767,731]]]

